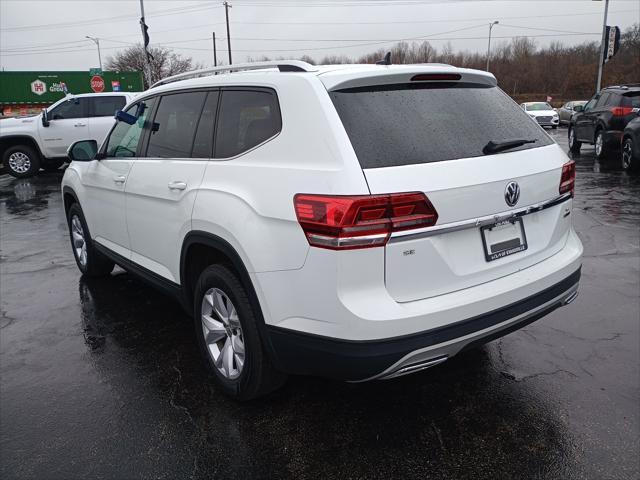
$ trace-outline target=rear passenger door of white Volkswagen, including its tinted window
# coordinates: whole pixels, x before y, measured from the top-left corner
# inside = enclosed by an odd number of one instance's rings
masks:
[[[162,96],[153,126],[127,181],[131,260],[180,282],[180,248],[213,152],[219,92]]]

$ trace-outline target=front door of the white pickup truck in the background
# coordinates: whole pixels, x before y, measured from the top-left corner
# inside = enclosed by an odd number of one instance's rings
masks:
[[[91,138],[88,109],[87,97],[74,97],[47,112],[49,126],[39,127],[45,157],[66,157],[71,144]]]

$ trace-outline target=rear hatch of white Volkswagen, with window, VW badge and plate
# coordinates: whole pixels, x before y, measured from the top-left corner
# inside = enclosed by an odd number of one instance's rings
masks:
[[[434,227],[394,233],[386,245],[390,295],[461,290],[558,252],[571,225],[570,194],[558,202],[566,155],[491,82],[411,78],[330,92],[370,192],[424,192],[438,213]],[[530,143],[487,150],[513,139]]]

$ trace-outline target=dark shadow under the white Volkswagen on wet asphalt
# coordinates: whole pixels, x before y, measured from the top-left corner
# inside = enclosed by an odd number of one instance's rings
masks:
[[[102,381],[123,397],[154,391],[152,401],[170,407],[162,421],[188,431],[193,458],[184,461],[195,476],[576,476],[562,419],[504,375],[495,343],[393,380],[290,377],[270,396],[237,403],[208,378],[192,320],[176,303],[126,273],[80,279],[79,296]]]

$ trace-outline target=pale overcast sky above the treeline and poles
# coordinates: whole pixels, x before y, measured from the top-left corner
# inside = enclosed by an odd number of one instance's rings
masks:
[[[234,63],[269,57],[316,60],[325,55],[358,56],[406,41],[428,40],[440,49],[485,52],[513,36],[539,46],[559,40],[573,45],[599,41],[604,1],[433,0],[230,0]],[[204,66],[227,60],[222,0],[144,0],[152,45],[163,45]],[[141,41],[139,0],[0,0],[0,68],[88,70],[119,49]],[[640,22],[640,0],[611,0],[609,25],[624,31]]]

